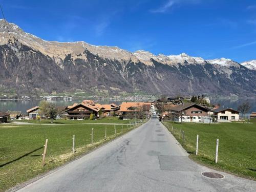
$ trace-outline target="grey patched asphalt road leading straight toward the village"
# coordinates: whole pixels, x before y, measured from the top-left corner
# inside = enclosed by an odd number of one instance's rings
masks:
[[[255,191],[256,182],[191,161],[155,119],[19,191]],[[220,173],[220,172],[219,172]]]

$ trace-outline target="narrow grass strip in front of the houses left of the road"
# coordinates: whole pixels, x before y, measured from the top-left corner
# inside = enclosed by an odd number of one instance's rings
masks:
[[[29,122],[29,123],[38,123],[38,124],[44,124],[44,123],[51,123],[50,119],[42,119],[40,120],[15,120],[18,122]],[[120,120],[118,117],[105,117],[102,119],[97,119],[97,120],[53,120],[53,123],[55,124],[82,124],[82,123],[130,123],[130,120]]]

